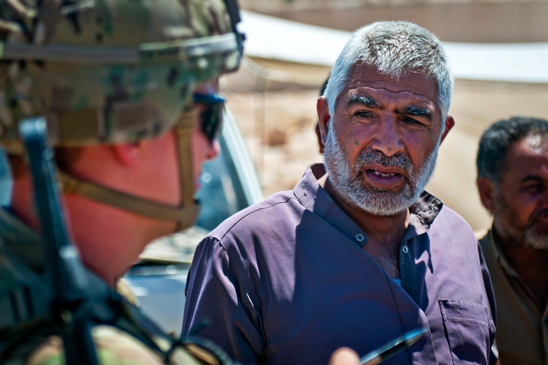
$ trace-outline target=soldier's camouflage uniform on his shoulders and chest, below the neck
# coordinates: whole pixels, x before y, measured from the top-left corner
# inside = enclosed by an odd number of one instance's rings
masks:
[[[63,364],[60,338],[48,335],[54,333],[59,324],[49,323],[56,319],[48,312],[52,293],[43,284],[47,267],[41,236],[7,210],[0,209],[0,242],[0,363]],[[191,344],[179,344],[163,334],[133,304],[108,288],[92,272],[87,271],[87,276],[92,295],[90,317],[98,324],[92,328],[92,335],[100,364],[163,364],[168,363],[168,359],[173,364],[220,363],[209,351]],[[25,301],[31,305],[24,306]],[[14,302],[18,305],[14,306]],[[33,316],[32,311],[35,311]],[[147,346],[138,345],[138,341]],[[170,352],[177,346],[182,347]],[[205,347],[208,346],[212,345],[206,343]],[[218,351],[214,347],[210,350]]]

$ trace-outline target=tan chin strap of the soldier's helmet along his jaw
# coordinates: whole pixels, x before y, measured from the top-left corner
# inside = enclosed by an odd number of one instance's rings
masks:
[[[59,172],[65,193],[76,193],[96,202],[127,210],[152,219],[178,222],[178,230],[184,230],[196,222],[199,212],[194,198],[192,170],[192,131],[196,128],[197,112],[181,113],[175,124],[175,136],[179,159],[179,181],[181,204],[170,206],[149,199],[140,198],[90,181],[83,181],[65,172]]]

